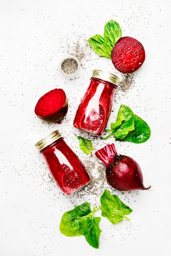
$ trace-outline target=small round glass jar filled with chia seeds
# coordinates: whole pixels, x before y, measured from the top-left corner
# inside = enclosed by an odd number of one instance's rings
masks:
[[[80,61],[73,55],[64,56],[60,60],[59,70],[64,77],[76,77],[80,71]]]

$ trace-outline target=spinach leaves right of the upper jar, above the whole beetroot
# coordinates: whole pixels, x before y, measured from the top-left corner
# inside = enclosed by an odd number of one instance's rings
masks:
[[[101,139],[107,139],[113,135],[116,141],[143,143],[151,136],[148,124],[135,115],[131,108],[123,104],[118,110],[116,122],[111,123],[111,129],[105,131],[110,132],[110,134],[107,137],[101,137]]]

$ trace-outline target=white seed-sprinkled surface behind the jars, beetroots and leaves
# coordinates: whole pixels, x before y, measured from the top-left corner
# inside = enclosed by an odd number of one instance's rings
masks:
[[[0,0],[0,255],[2,256],[169,256],[171,251],[171,4],[169,0]],[[143,144],[107,141],[73,128],[77,106],[94,69],[112,72],[110,59],[85,46],[88,38],[104,32],[116,20],[122,36],[138,39],[146,59],[135,71],[135,84],[127,92],[118,88],[108,123],[115,121],[120,104],[129,106],[151,128]],[[60,74],[60,58],[76,42],[85,48],[77,79]],[[54,88],[62,88],[69,110],[61,124],[38,119],[38,99]],[[131,221],[112,225],[101,218],[100,247],[94,249],[84,236],[69,238],[59,231],[65,211],[89,202],[100,203],[102,185],[66,196],[51,180],[34,144],[59,129],[67,144],[92,175],[99,161],[79,149],[77,135],[93,141],[95,150],[115,143],[118,153],[133,157],[141,166],[144,186],[150,191],[115,191],[104,180],[104,188],[115,193],[133,212]],[[103,171],[105,171],[103,169]],[[99,194],[98,194],[99,193]],[[100,216],[100,211],[96,216]]]

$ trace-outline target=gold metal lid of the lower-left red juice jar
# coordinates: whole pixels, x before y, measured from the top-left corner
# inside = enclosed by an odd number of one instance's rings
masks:
[[[38,148],[38,150],[42,150],[43,148],[49,146],[51,143],[53,143],[54,141],[56,141],[57,139],[61,138],[62,135],[59,133],[58,130],[52,132],[51,134],[49,134],[47,137],[41,139],[40,141],[38,141],[35,146],[36,148]]]

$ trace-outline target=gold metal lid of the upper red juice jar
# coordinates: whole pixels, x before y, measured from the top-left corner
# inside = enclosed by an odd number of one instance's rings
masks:
[[[118,76],[115,76],[109,72],[102,71],[102,70],[94,70],[91,77],[100,78],[110,83],[114,83],[117,87],[120,82],[120,78]]]

